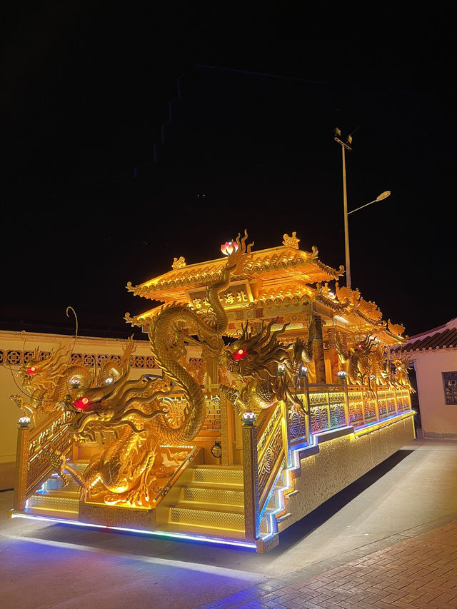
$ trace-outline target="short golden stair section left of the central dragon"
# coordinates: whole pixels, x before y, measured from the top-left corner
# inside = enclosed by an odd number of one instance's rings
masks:
[[[68,461],[78,473],[83,473],[89,461]],[[71,480],[64,486],[64,480],[53,473],[45,483],[31,495],[25,512],[34,515],[46,515],[66,520],[78,520],[79,486]]]

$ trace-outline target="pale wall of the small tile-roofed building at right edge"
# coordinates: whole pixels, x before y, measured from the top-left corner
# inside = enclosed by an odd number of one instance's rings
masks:
[[[424,437],[456,438],[457,405],[446,404],[443,372],[457,372],[457,349],[413,352]]]

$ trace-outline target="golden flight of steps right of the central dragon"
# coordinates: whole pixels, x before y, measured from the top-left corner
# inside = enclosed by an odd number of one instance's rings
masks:
[[[159,509],[161,530],[244,539],[242,465],[194,465]]]

